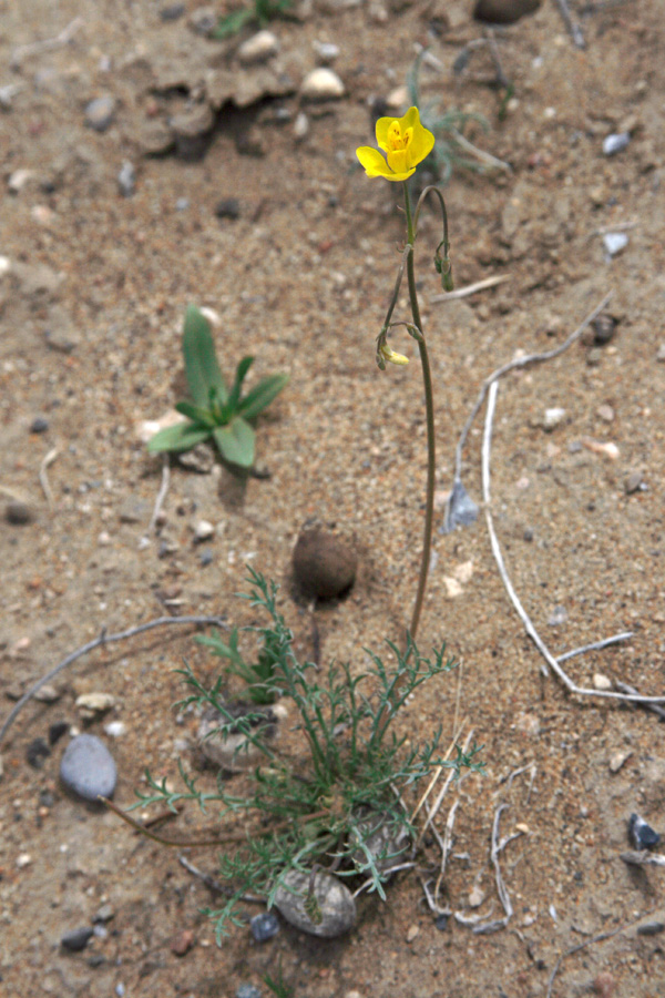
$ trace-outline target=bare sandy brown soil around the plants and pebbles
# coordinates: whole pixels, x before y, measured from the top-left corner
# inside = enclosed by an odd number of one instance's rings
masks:
[[[514,100],[503,120],[501,95],[473,78],[491,70],[487,53],[473,57],[470,73],[452,73],[462,45],[482,33],[469,4],[441,4],[451,27],[433,40],[428,22],[437,11],[422,3],[315,6],[273,26],[296,92],[241,110],[224,104],[197,162],[145,157],[142,131],[181,110],[187,88],[196,98],[226,51],[192,32],[195,4],[186,6],[182,18],[164,22],[156,2],[0,0],[0,85],[22,88],[0,109],[4,181],[32,171],[17,193],[6,186],[2,202],[0,254],[10,268],[0,277],[0,483],[3,501],[20,495],[35,513],[25,525],[0,523],[3,716],[10,697],[103,628],[163,612],[256,622],[234,597],[247,562],[282,583],[284,612],[309,655],[310,618],[291,598],[289,566],[310,517],[337,525],[361,552],[350,595],[316,611],[325,659],[360,668],[362,648],[378,651],[400,633],[420,556],[422,389],[406,336],[396,335],[395,345],[413,363],[386,373],[375,364],[402,221],[399,191],[356,170],[354,151],[371,142],[368,101],[402,83],[415,43],[428,41],[443,64],[426,71],[428,93],[483,113],[491,130],[478,134],[479,144],[512,166],[510,175],[456,172],[446,189],[457,285],[495,274],[509,282],[432,303],[440,291],[431,267],[436,215],[426,213],[421,227],[417,266],[438,405],[438,490],[450,488],[454,445],[488,374],[518,350],[563,342],[612,291],[607,310],[617,324],[610,343],[594,346],[587,336],[561,358],[502,381],[492,508],[515,590],[553,653],[633,632],[627,643],[573,659],[571,675],[592,685],[602,673],[663,693],[661,3],[589,6],[584,51],[553,2],[507,29],[499,50]],[[75,17],[82,24],[66,45],[23,53],[10,68],[19,47],[57,35]],[[303,105],[310,128],[298,142],[297,88],[315,65],[315,40],[339,45],[335,71],[346,96]],[[184,83],[155,92],[166,71]],[[115,118],[98,133],[84,109],[104,93],[116,101]],[[290,120],[276,120],[279,108]],[[621,131],[631,133],[630,144],[605,156],[603,139]],[[131,197],[117,189],[124,160],[137,172]],[[228,197],[239,201],[235,221],[215,215]],[[178,207],[178,198],[187,205]],[[598,233],[626,223],[628,244],[608,259]],[[252,353],[253,377],[289,371],[291,379],[259,426],[258,461],[269,477],[239,487],[219,469],[197,475],[174,462],[166,522],[142,544],[162,465],[146,454],[136,426],[181,397],[180,338],[191,302],[218,314],[223,365]],[[406,317],[406,303],[402,310]],[[549,434],[542,421],[553,407],[565,417]],[[40,415],[48,429],[32,432]],[[464,482],[477,500],[481,429],[479,422],[466,452]],[[589,449],[590,440],[613,444],[617,454]],[[39,470],[53,449],[48,502]],[[628,495],[633,472],[645,488]],[[442,515],[439,508],[437,527]],[[207,566],[193,542],[200,519],[217,528]],[[484,745],[488,773],[450,791],[437,818],[442,829],[459,794],[453,852],[468,858],[451,860],[444,898],[471,915],[478,885],[484,900],[477,913],[501,916],[489,843],[504,802],[501,834],[522,833],[502,853],[514,907],[508,928],[479,936],[451,918],[439,930],[418,877],[401,874],[387,904],[359,900],[348,938],[321,941],[283,925],[259,946],[247,928],[234,928],[217,948],[201,914],[214,898],[174,852],[63,790],[68,736],[42,768],[27,761],[29,744],[65,721],[110,745],[120,806],[132,803],[146,767],[173,781],[178,758],[193,768],[196,721],[176,723],[183,688],[175,670],[186,658],[211,678],[215,661],[191,630],[171,628],[79,661],[57,681],[57,701],[28,705],[7,736],[3,995],[233,998],[241,984],[267,995],[262,976],[282,963],[298,998],[544,998],[559,956],[590,943],[563,960],[553,996],[662,998],[664,937],[638,929],[665,921],[663,874],[635,873],[620,858],[632,812],[665,829],[658,717],[571,696],[541,674],[482,515],[463,531],[437,531],[433,549],[419,638],[424,648],[448,642],[461,681],[447,676],[423,689],[402,723],[413,737],[438,724],[452,737],[459,690],[458,716]],[[451,598],[446,579],[469,562],[472,572],[462,571],[467,581]],[[84,723],[74,704],[84,691],[112,693],[116,706]],[[125,725],[120,737],[104,732],[112,720]],[[204,783],[214,778],[201,774]],[[164,831],[184,836],[213,821],[188,806]],[[428,857],[438,862],[436,848]],[[214,873],[214,851],[191,858]],[[105,903],[114,912],[106,935],[64,953],[63,933],[90,925]],[[171,944],[186,929],[194,945],[177,956]]]

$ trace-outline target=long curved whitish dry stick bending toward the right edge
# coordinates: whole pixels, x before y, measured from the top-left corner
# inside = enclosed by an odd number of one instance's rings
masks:
[[[513,589],[513,584],[510,581],[510,577],[508,574],[508,570],[505,568],[505,562],[503,561],[503,554],[501,552],[501,547],[499,544],[499,539],[497,537],[497,532],[494,530],[494,521],[492,519],[492,512],[490,509],[490,452],[492,446],[492,424],[494,420],[494,408],[497,405],[497,393],[499,390],[498,381],[492,381],[488,393],[488,408],[485,414],[485,425],[484,432],[482,439],[482,498],[484,502],[484,512],[485,520],[488,525],[488,532],[490,534],[490,544],[492,547],[492,554],[494,556],[494,560],[497,562],[497,568],[499,569],[499,574],[501,576],[501,581],[505,587],[505,591],[510,598],[511,603],[515,608],[520,620],[524,624],[524,629],[541,655],[551,666],[553,672],[559,676],[562,683],[566,686],[569,692],[576,693],[579,696],[601,696],[610,700],[620,700],[624,703],[665,703],[665,696],[642,696],[640,693],[615,693],[612,690],[591,690],[586,686],[577,686],[576,683],[567,675],[567,673],[562,669],[557,659],[551,653],[551,651],[545,645],[544,641],[535,630],[533,623],[531,622],[531,618],[524,610],[522,603],[520,602],[520,598],[518,597],[515,590]],[[608,639],[610,640],[610,639]],[[545,662],[541,663],[541,670],[543,675],[549,675],[548,666]]]

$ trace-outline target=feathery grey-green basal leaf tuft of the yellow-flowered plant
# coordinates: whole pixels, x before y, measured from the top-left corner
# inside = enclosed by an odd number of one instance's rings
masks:
[[[264,649],[270,649],[273,655],[274,682],[266,686],[296,707],[296,729],[307,762],[304,764],[303,753],[297,758],[282,757],[277,746],[262,739],[260,727],[254,724],[256,714],[234,716],[219,681],[205,689],[185,666],[182,674],[193,693],[180,705],[212,705],[225,719],[218,729],[222,737],[241,732],[265,764],[254,772],[252,790],[244,796],[227,793],[221,781],[215,791],[204,793],[182,768],[186,791],[171,791],[147,774],[152,793],[139,794],[139,806],[160,802],[174,807],[178,801],[195,800],[207,811],[217,802],[222,828],[235,829],[235,852],[222,855],[219,868],[222,880],[229,884],[229,897],[222,908],[208,910],[216,919],[218,936],[225,934],[229,920],[238,920],[236,909],[243,895],[265,895],[270,905],[284,876],[294,869],[309,873],[314,866],[332,867],[338,877],[368,879],[369,889],[385,898],[385,860],[391,856],[377,855],[368,847],[375,831],[367,823],[368,811],[381,815],[395,833],[392,838],[403,832],[412,837],[413,827],[401,803],[407,787],[433,766],[457,774],[464,766],[482,768],[482,763],[474,761],[475,746],[467,754],[458,750],[454,760],[439,758],[441,730],[422,745],[392,730],[407,697],[427,680],[453,668],[444,658],[444,648],[430,659],[410,640],[406,652],[388,642],[397,658],[395,670],[389,671],[378,655],[368,652],[372,664],[360,675],[351,675],[348,664],[330,665],[321,675],[315,665],[301,664],[296,658],[294,635],[277,609],[276,584],[253,569],[247,581],[252,588],[244,598],[269,618],[267,627],[259,629]]]

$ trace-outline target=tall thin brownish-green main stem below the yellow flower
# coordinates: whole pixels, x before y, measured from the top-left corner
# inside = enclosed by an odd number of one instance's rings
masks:
[[[424,409],[427,417],[427,491],[424,498],[424,530],[422,537],[422,557],[420,560],[420,574],[418,577],[418,591],[416,593],[416,602],[411,614],[411,623],[409,625],[409,634],[416,640],[418,624],[420,622],[420,613],[422,611],[422,601],[424,599],[424,590],[427,587],[427,577],[430,563],[430,550],[432,546],[432,526],[434,517],[434,476],[436,476],[436,444],[434,444],[434,398],[432,391],[432,373],[429,363],[429,354],[424,342],[422,330],[422,319],[420,318],[420,307],[418,305],[418,292],[416,291],[416,271],[413,266],[413,244],[416,242],[416,228],[411,215],[411,201],[409,198],[409,189],[405,182],[405,211],[407,215],[407,243],[411,247],[411,252],[407,256],[407,278],[409,282],[409,298],[411,299],[411,314],[413,323],[420,330],[422,336],[417,340],[420,350],[420,363],[422,365],[422,383],[424,387]]]

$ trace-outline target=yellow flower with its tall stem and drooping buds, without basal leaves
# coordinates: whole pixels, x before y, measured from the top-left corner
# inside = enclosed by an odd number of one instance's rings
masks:
[[[418,344],[420,361],[422,365],[422,380],[424,385],[424,406],[427,415],[424,537],[422,542],[420,574],[418,577],[418,590],[416,593],[413,612],[411,614],[411,623],[408,629],[409,638],[411,641],[415,641],[427,585],[434,511],[434,399],[429,354],[422,328],[420,306],[418,304],[418,292],[416,289],[416,269],[413,259],[420,208],[428,194],[433,194],[438,197],[441,206],[443,237],[434,253],[434,266],[437,272],[441,275],[441,283],[444,291],[452,291],[452,268],[449,255],[448,214],[446,212],[446,202],[441,191],[433,185],[426,187],[418,200],[416,211],[413,212],[411,210],[411,200],[407,181],[416,173],[418,165],[427,159],[434,147],[434,136],[422,125],[418,108],[409,108],[402,118],[379,118],[376,124],[376,135],[379,149],[364,145],[356,150],[356,155],[358,156],[360,164],[365,167],[365,172],[368,176],[379,176],[383,177],[383,180],[402,184],[405,194],[405,214],[407,220],[407,237],[397,281],[395,283],[395,291],[392,292],[392,298],[388,306],[381,332],[377,337],[377,364],[381,370],[386,370],[387,364],[405,365],[409,363],[403,354],[398,354],[397,350],[393,350],[388,344],[388,334],[390,330],[396,326],[405,326],[409,336],[412,336]],[[379,150],[381,150],[381,152],[379,152]],[[409,285],[411,322],[393,322],[392,313],[397,304],[405,268],[407,271],[407,281]]]

